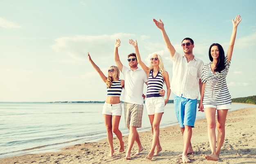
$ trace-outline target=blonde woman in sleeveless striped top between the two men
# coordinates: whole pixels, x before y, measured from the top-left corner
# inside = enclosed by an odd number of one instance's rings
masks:
[[[150,66],[148,67],[141,61],[137,41],[130,39],[129,43],[135,48],[135,54],[139,65],[148,75],[145,105],[153,132],[153,141],[146,159],[151,160],[153,156],[158,155],[159,152],[162,151],[159,142],[159,125],[164,113],[164,106],[168,102],[171,94],[169,75],[168,72],[164,70],[163,61],[160,55],[153,54],[150,58]],[[163,89],[164,83],[166,84],[167,89],[166,99],[159,94],[159,91]],[[157,151],[154,153],[155,147],[157,147]]]

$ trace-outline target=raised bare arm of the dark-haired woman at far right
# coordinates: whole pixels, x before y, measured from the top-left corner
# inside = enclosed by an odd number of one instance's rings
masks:
[[[232,57],[233,48],[234,48],[234,44],[235,44],[235,40],[236,40],[237,26],[241,22],[241,20],[242,20],[242,18],[240,15],[236,15],[235,20],[234,19],[232,20],[233,30],[232,30],[232,34],[231,34],[231,38],[230,38],[230,42],[229,42],[229,49],[227,50],[227,61],[228,62],[231,60],[231,57]]]

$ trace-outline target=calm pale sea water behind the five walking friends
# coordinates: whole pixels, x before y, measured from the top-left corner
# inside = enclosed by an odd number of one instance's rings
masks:
[[[0,102],[0,158],[53,152],[106,138],[102,107],[103,103]],[[123,104],[122,107],[119,129],[125,136],[129,131],[124,124]],[[230,111],[245,107],[255,106],[233,103]],[[204,113],[197,112],[196,119],[201,118],[205,118]],[[160,127],[177,124],[173,103],[168,103]],[[138,131],[149,130],[150,122],[144,106],[142,127]]]

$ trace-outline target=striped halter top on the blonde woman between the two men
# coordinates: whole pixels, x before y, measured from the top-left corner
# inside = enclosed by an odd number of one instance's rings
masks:
[[[161,97],[159,91],[163,89],[164,78],[160,71],[158,71],[156,77],[153,77],[153,70],[149,72],[148,76],[148,90],[147,90],[147,98],[148,97]]]

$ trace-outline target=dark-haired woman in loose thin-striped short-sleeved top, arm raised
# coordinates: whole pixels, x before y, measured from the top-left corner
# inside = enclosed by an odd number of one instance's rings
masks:
[[[237,26],[241,21],[240,15],[236,15],[232,20],[233,30],[230,38],[227,56],[220,44],[214,43],[209,48],[210,63],[205,64],[202,70],[202,94],[199,108],[201,112],[205,111],[207,119],[207,129],[211,154],[205,155],[205,159],[218,161],[220,158],[220,149],[225,138],[225,122],[228,109],[231,109],[231,96],[227,88],[226,76],[229,70],[234,43],[236,39]],[[216,120],[215,114],[218,114],[217,128],[217,148],[216,148]]]

